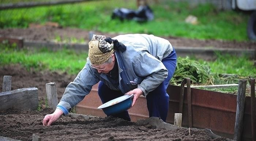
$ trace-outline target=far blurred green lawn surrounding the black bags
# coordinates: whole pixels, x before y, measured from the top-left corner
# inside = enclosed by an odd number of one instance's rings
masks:
[[[249,15],[241,11],[221,11],[211,4],[190,6],[185,2],[160,0],[151,3],[154,20],[145,23],[111,19],[114,8],[137,9],[135,0],[98,0],[0,11],[0,28],[26,28],[29,23],[57,22],[76,27],[114,33],[146,33],[194,39],[248,41],[246,25]],[[194,15],[198,24],[185,23]]]

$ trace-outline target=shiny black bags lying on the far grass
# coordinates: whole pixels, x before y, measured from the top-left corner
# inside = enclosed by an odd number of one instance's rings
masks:
[[[138,22],[146,22],[149,20],[153,20],[154,14],[148,5],[141,5],[138,10],[116,8],[112,13],[111,18],[119,18],[121,21],[123,21],[124,19],[128,19]]]

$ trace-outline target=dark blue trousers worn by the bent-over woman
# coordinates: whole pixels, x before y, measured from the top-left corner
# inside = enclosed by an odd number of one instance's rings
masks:
[[[149,117],[159,117],[163,121],[166,121],[168,107],[169,107],[169,95],[167,94],[166,89],[176,69],[176,63],[177,63],[177,56],[174,49],[169,56],[167,56],[166,58],[163,58],[162,63],[163,65],[165,65],[166,69],[168,70],[168,76],[154,91],[151,91],[148,93],[148,95],[146,96],[146,99],[147,99],[147,108],[148,108]],[[115,91],[110,89],[102,81],[99,82],[98,94],[99,94],[99,97],[101,98],[102,103],[106,103],[114,98],[118,98],[124,95],[121,91]],[[111,116],[123,118],[127,121],[131,121],[131,118],[127,110],[123,111],[122,113],[118,113]]]

